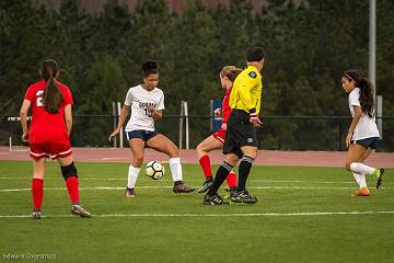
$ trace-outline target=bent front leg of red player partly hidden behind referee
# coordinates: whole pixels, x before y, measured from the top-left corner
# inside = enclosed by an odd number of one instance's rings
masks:
[[[206,178],[202,186],[198,188],[198,193],[205,193],[209,190],[213,182],[212,169],[208,152],[223,148],[223,144],[212,135],[204,139],[196,148],[200,167]]]

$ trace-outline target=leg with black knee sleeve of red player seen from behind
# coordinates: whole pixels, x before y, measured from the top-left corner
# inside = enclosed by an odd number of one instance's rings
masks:
[[[60,164],[61,174],[70,196],[71,213],[80,217],[92,217],[92,215],[80,205],[78,170],[74,165],[72,153],[60,153],[57,156],[57,161]]]

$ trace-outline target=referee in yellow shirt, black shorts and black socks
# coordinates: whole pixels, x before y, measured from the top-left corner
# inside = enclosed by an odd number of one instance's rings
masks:
[[[264,52],[260,47],[247,50],[246,65],[246,69],[236,77],[230,93],[231,114],[223,146],[225,158],[204,196],[205,205],[228,204],[219,196],[218,190],[240,159],[237,188],[231,201],[246,204],[257,202],[257,198],[246,191],[246,180],[257,156],[256,129],[263,125],[258,118],[263,90],[259,71],[264,66]]]

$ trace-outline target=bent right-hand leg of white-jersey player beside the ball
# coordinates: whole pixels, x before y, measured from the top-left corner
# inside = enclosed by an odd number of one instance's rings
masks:
[[[171,174],[174,181],[174,193],[190,193],[195,188],[188,186],[183,182],[183,171],[179,158],[178,148],[167,137],[162,134],[157,134],[147,140],[147,147],[152,148],[157,151],[166,153],[170,157],[169,164]]]

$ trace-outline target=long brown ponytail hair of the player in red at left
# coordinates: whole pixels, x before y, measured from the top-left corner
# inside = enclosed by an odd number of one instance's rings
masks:
[[[44,91],[44,108],[50,114],[59,112],[63,95],[60,89],[56,85],[55,78],[59,72],[57,62],[53,59],[47,59],[42,64],[42,78],[47,81]]]

